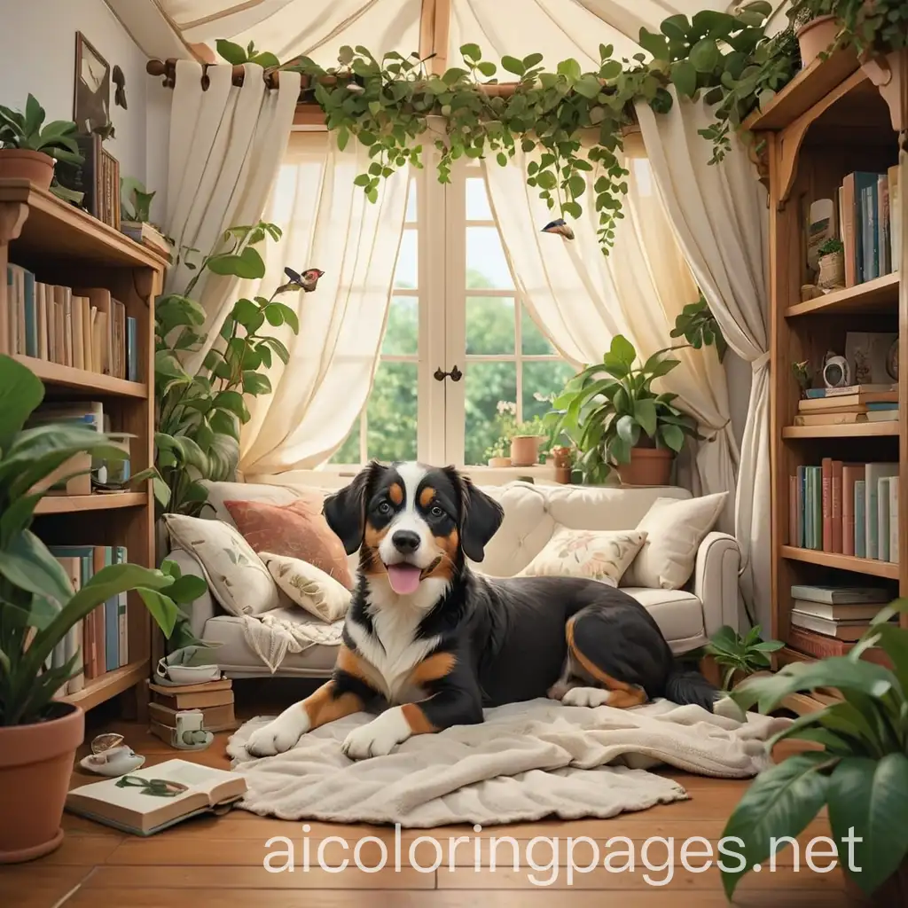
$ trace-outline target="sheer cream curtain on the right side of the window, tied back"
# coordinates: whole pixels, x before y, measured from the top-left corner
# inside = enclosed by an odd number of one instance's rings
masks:
[[[589,173],[583,218],[573,224],[576,239],[540,232],[553,217],[538,190],[526,183],[531,155],[518,153],[507,167],[489,163],[489,196],[508,257],[528,311],[558,351],[575,365],[597,362],[616,334],[623,334],[646,358],[673,343],[669,331],[677,314],[696,301],[696,283],[677,245],[655,191],[642,145],[629,136],[630,171],[615,248],[604,256],[596,235]],[[696,448],[691,486],[696,493],[730,491],[734,498],[738,451],[731,428],[725,370],[715,349],[681,350],[681,365],[662,380],[715,440]],[[734,527],[734,505],[720,528]]]

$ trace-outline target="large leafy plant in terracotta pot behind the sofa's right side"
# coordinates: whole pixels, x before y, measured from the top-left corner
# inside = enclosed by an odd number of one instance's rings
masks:
[[[676,394],[653,390],[653,381],[680,360],[656,352],[636,365],[637,350],[620,334],[601,363],[568,381],[543,420],[553,437],[576,439],[578,469],[589,482],[604,482],[614,470],[626,486],[665,486],[685,439],[704,437],[696,420],[674,405]]]

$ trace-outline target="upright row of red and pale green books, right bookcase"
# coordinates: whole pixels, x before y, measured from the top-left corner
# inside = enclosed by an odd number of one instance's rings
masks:
[[[789,477],[790,545],[898,563],[899,465],[824,458]]]

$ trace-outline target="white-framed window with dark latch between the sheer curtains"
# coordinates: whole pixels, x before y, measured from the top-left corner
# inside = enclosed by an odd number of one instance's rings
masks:
[[[516,289],[478,163],[441,186],[427,161],[406,225],[370,399],[331,463],[419,458],[477,465],[498,438],[498,401],[518,421],[574,374]],[[437,370],[462,379],[437,380]]]

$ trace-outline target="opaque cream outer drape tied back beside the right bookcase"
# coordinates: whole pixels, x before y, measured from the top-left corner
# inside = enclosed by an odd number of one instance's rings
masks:
[[[670,89],[674,95],[675,89]],[[684,101],[668,114],[637,105],[637,118],[659,194],[678,242],[728,346],[751,364],[753,381],[741,452],[735,535],[745,553],[742,593],[769,627],[770,463],[768,212],[745,147],[733,137],[721,164],[697,134],[713,121],[702,103]]]

